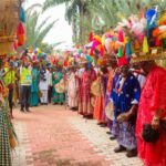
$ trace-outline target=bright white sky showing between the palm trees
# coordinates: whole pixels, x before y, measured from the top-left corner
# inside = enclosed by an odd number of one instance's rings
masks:
[[[44,2],[44,0],[25,0],[24,8],[28,8],[34,3],[42,4],[43,2]],[[64,7],[64,4],[62,4],[62,6],[49,9],[40,18],[40,20],[43,20],[44,18],[50,15],[51,20],[59,19],[59,21],[55,23],[54,28],[49,32],[48,37],[45,38],[45,40],[44,40],[45,42],[56,43],[56,42],[65,41],[65,43],[61,45],[62,48],[72,44],[72,29],[65,21],[64,13],[65,13],[65,7]]]

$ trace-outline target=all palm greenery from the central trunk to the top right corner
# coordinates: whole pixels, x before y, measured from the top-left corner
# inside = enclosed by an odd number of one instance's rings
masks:
[[[115,27],[122,18],[136,14],[149,4],[166,7],[165,0],[45,0],[44,10],[65,3],[65,19],[73,28],[74,43],[86,42],[86,34],[93,30],[102,32],[103,27]]]

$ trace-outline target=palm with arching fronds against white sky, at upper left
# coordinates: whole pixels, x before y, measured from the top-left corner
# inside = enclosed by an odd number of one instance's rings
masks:
[[[49,22],[50,17],[48,17],[41,23],[39,23],[41,12],[34,10],[37,9],[37,7],[41,8],[40,4],[35,4],[28,8],[25,11],[27,22],[24,27],[25,27],[27,41],[23,45],[23,49],[29,46],[34,46],[34,48],[41,48],[42,51],[44,51],[45,53],[51,53],[51,50],[53,50],[54,45],[60,43],[50,45],[48,43],[43,43],[43,40],[46,37],[46,34],[50,32],[50,30],[54,27],[58,20]]]

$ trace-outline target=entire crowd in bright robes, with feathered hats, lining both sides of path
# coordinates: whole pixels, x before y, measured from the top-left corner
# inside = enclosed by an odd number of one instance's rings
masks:
[[[166,70],[157,65],[166,53],[166,12],[153,2],[138,7],[137,14],[120,17],[102,33],[90,32],[87,44],[46,55],[34,45],[18,49],[25,41],[21,3],[2,3],[14,18],[1,17],[0,166],[12,165],[10,149],[17,146],[13,107],[29,113],[48,104],[65,105],[108,127],[110,139],[118,144],[115,153],[138,155],[145,166],[166,166]]]

